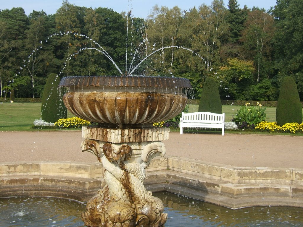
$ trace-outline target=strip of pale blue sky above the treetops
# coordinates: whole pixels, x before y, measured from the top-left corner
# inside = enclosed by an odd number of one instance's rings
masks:
[[[16,7],[22,7],[26,15],[29,15],[33,10],[45,11],[48,15],[56,13],[58,8],[62,6],[62,0],[0,0],[0,9],[12,9]],[[120,13],[122,11],[127,12],[132,8],[133,17],[147,18],[147,15],[151,12],[154,5],[167,6],[173,8],[177,5],[182,10],[189,10],[196,6],[198,8],[202,3],[211,5],[212,0],[132,0],[130,4],[128,0],[68,0],[70,4],[77,6],[85,6],[87,8],[92,7],[104,7],[112,8],[114,11]],[[223,0],[226,8],[228,8],[228,0]],[[238,0],[240,8],[247,5],[248,8],[258,6],[268,10],[271,6],[276,5],[276,0]]]

